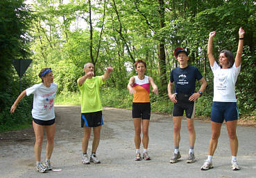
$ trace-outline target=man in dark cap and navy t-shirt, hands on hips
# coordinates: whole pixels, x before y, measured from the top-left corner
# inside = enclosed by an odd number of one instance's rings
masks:
[[[180,159],[180,128],[184,115],[187,117],[187,129],[189,131],[189,157],[187,163],[193,163],[196,159],[194,155],[194,144],[196,141],[196,132],[194,130],[194,114],[195,101],[203,94],[207,83],[200,74],[198,68],[189,66],[188,53],[183,48],[176,48],[174,56],[178,60],[179,67],[171,70],[170,80],[168,84],[169,99],[173,101],[173,144],[174,154],[170,163],[176,163]],[[198,91],[196,89],[196,80],[200,81],[201,86]],[[173,88],[174,84],[174,88]],[[173,92],[174,89],[174,92]]]

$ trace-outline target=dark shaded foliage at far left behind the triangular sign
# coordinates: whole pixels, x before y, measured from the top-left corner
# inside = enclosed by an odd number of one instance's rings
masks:
[[[12,59],[27,59],[27,32],[31,23],[31,11],[24,1],[0,1],[0,132],[26,126],[31,122],[32,98],[25,98],[13,115],[10,107],[19,95],[19,81]],[[22,89],[31,85],[30,75],[22,78]]]

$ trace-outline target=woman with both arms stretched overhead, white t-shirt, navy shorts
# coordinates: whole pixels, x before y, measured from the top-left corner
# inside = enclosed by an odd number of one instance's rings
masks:
[[[212,72],[214,73],[214,98],[211,112],[212,137],[210,139],[208,157],[201,170],[213,168],[212,157],[216,150],[219,136],[221,135],[221,125],[226,121],[228,137],[230,138],[230,150],[232,154],[232,170],[239,170],[237,164],[237,120],[238,108],[234,86],[237,76],[241,70],[241,54],[244,46],[244,30],[239,29],[239,43],[237,55],[234,59],[232,52],[222,50],[219,55],[219,65],[212,55],[212,41],[216,32],[210,32],[207,46],[207,56],[210,61]]]

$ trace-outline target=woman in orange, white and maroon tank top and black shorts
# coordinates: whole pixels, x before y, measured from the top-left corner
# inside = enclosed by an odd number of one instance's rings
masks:
[[[128,90],[130,95],[133,95],[133,123],[135,128],[135,148],[136,148],[136,157],[135,161],[142,160],[142,157],[139,152],[139,147],[142,141],[144,151],[143,159],[150,160],[148,156],[148,126],[149,119],[151,117],[151,103],[149,98],[150,87],[152,86],[153,92],[158,95],[158,88],[155,85],[155,82],[152,77],[145,75],[146,72],[146,62],[144,60],[137,60],[135,62],[135,70],[137,76],[130,77],[128,83]],[[141,125],[143,137],[141,139]]]

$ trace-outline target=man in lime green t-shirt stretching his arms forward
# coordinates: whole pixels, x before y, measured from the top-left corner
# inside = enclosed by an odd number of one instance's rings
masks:
[[[82,95],[81,101],[81,127],[83,128],[83,141],[82,141],[82,163],[89,164],[94,162],[95,164],[101,163],[96,157],[96,150],[99,146],[101,127],[103,125],[102,110],[100,98],[100,86],[105,83],[105,80],[110,77],[113,70],[112,67],[108,67],[107,71],[102,76],[94,77],[94,64],[85,63],[83,68],[85,75],[78,79],[78,88]],[[87,156],[87,148],[89,137],[91,135],[91,129],[94,130],[94,139],[92,142],[92,155],[90,158]]]

